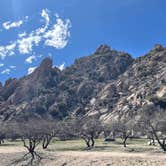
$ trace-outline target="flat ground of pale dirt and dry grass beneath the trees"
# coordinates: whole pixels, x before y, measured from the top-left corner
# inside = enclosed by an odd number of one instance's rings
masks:
[[[46,151],[37,149],[44,157],[44,166],[165,166],[166,154],[158,146],[148,146],[147,140],[133,140],[123,148],[121,141],[105,143],[96,141],[96,147],[88,151],[82,140],[53,141]],[[20,142],[7,142],[0,146],[0,166],[25,154]]]

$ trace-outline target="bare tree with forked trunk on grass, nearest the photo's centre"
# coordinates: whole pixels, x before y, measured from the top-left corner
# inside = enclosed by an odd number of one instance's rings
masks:
[[[95,117],[73,117],[61,122],[59,131],[61,140],[82,138],[90,149],[102,131],[102,124]]]

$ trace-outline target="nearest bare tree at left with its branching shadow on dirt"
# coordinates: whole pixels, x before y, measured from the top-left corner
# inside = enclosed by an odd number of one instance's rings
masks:
[[[27,161],[27,165],[39,163],[41,157],[36,152],[36,148],[42,141],[42,125],[39,119],[31,119],[26,122],[10,122],[6,124],[7,138],[20,138],[23,146],[27,149],[26,153],[21,159],[14,161],[12,164]],[[12,165],[11,164],[11,165]]]

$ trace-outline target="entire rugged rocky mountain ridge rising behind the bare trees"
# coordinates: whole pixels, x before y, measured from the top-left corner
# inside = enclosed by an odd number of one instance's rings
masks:
[[[165,106],[166,48],[133,59],[101,45],[63,71],[46,58],[32,74],[0,84],[0,120],[98,115],[107,122],[152,100]]]

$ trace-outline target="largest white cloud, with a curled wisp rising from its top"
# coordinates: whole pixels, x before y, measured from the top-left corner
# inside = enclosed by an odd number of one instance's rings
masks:
[[[70,36],[70,20],[67,19],[66,21],[63,21],[62,19],[57,18],[57,22],[53,27],[46,31],[50,20],[48,11],[43,10],[41,16],[46,22],[44,28],[38,28],[37,30],[32,31],[28,37],[23,37],[17,41],[18,50],[21,54],[31,53],[33,46],[38,46],[41,41],[44,41],[45,45],[56,49],[62,49],[67,45],[68,37]]]

